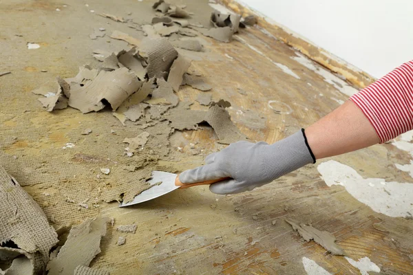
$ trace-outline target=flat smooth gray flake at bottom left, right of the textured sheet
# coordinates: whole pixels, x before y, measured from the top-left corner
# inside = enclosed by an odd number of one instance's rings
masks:
[[[72,275],[79,265],[89,266],[100,253],[100,239],[106,234],[106,219],[87,219],[70,230],[65,245],[47,264],[49,275]]]

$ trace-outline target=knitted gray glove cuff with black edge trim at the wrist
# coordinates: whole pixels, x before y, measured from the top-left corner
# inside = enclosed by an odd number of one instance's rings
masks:
[[[315,163],[304,129],[269,145],[264,153],[264,168],[270,180],[277,179],[302,166]]]

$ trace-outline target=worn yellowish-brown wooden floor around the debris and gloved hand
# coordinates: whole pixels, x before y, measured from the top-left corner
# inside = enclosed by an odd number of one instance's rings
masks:
[[[78,66],[93,63],[91,52],[102,43],[113,50],[126,47],[125,42],[108,37],[100,42],[91,41],[88,35],[93,28],[105,25],[108,33],[120,30],[142,36],[123,23],[89,12],[94,9],[126,17],[131,11],[138,22],[151,18],[142,14],[143,10],[151,10],[151,1],[118,2],[114,6],[112,1],[90,1],[89,8],[85,8],[86,2],[71,1],[67,10],[61,8],[59,14],[55,8],[62,3],[54,1],[0,3],[5,30],[0,34],[0,71],[12,71],[0,77],[0,96],[7,91],[0,102],[2,137],[10,140],[14,129],[23,135],[23,131],[30,131],[26,127],[36,125],[42,129],[39,136],[56,136],[40,145],[28,140],[21,140],[18,145],[5,142],[0,145],[3,151],[0,162],[24,152],[31,159],[28,175],[37,173],[30,167],[41,165],[36,162],[42,154],[41,146],[61,148],[68,140],[69,131],[80,131],[79,122],[109,123],[116,125],[117,131],[123,131],[110,113],[81,115],[64,110],[50,115],[36,103],[36,96],[30,94],[45,80],[73,76]],[[200,15],[200,21],[208,20],[207,0],[187,5],[195,15],[204,14]],[[295,50],[259,26],[241,30],[231,43],[202,39],[204,53],[182,52],[194,59],[191,69],[201,72],[213,86],[213,99],[231,102],[229,113],[233,122],[251,140],[268,143],[281,140],[317,121],[338,107],[340,100],[348,98],[320,74],[295,61]],[[40,43],[41,49],[28,51],[27,42]],[[48,73],[40,72],[43,68]],[[194,101],[199,92],[184,86],[178,96],[180,100]],[[202,108],[197,102],[193,104],[193,109]],[[215,141],[213,131],[207,127],[202,131],[174,133],[171,150],[179,155],[180,162],[164,160],[162,165],[178,170],[199,166],[203,157],[191,155],[189,144],[195,143],[203,153],[210,153],[222,148]],[[184,148],[182,153],[178,152],[178,146]],[[105,147],[96,150],[104,152]],[[391,144],[372,146],[335,160],[356,169],[363,177],[413,183],[410,175],[394,166],[394,163],[409,163],[409,155]],[[115,219],[115,227],[109,228],[102,252],[92,267],[105,268],[111,274],[306,274],[302,265],[306,257],[331,274],[359,274],[343,256],[332,256],[317,243],[302,241],[284,221],[289,218],[331,232],[346,256],[354,260],[368,256],[381,267],[383,274],[413,274],[413,221],[374,212],[342,186],[328,187],[319,176],[316,164],[238,195],[214,195],[207,188],[197,187],[177,190],[131,208],[103,203],[98,210],[85,211],[83,215],[101,214]],[[56,184],[63,184],[59,180],[56,179]],[[41,184],[25,186],[25,190],[42,208],[63,211],[45,206]],[[136,234],[115,230],[116,225],[130,223],[138,225]],[[377,230],[377,224],[381,230]],[[125,245],[116,245],[118,236],[126,236]]]

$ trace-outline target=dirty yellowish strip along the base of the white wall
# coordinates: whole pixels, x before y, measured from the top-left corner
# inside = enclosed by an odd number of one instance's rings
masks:
[[[219,0],[218,2],[233,10],[233,12],[242,15],[242,17],[255,15],[255,17],[257,17],[257,25],[259,27],[264,28],[267,32],[269,32],[269,34],[275,36],[276,39],[279,39],[279,41],[283,41],[290,47],[293,47],[295,50],[298,50],[302,54],[308,56],[308,58],[326,67],[331,72],[347,80],[348,83],[359,89],[367,87],[376,80],[376,78],[370,76],[366,72],[363,72],[361,69],[350,65],[346,61],[334,56],[321,47],[317,47],[317,45],[307,41],[303,37],[299,36],[299,34],[288,30],[288,28],[279,25],[274,21],[266,19],[263,14],[260,14],[260,12],[244,5],[240,0]]]

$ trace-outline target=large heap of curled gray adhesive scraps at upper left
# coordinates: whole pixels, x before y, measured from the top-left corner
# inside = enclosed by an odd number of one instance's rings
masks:
[[[132,47],[105,58],[94,51],[102,61],[97,69],[84,65],[73,78],[58,78],[32,92],[43,96],[39,101],[47,111],[67,106],[82,113],[107,106],[116,111],[125,103],[121,109],[126,112],[149,94],[153,99],[165,97],[165,104],[176,106],[178,97],[173,91],[178,91],[191,61],[179,56],[167,39],[148,38],[142,41],[142,48],[145,52]]]

